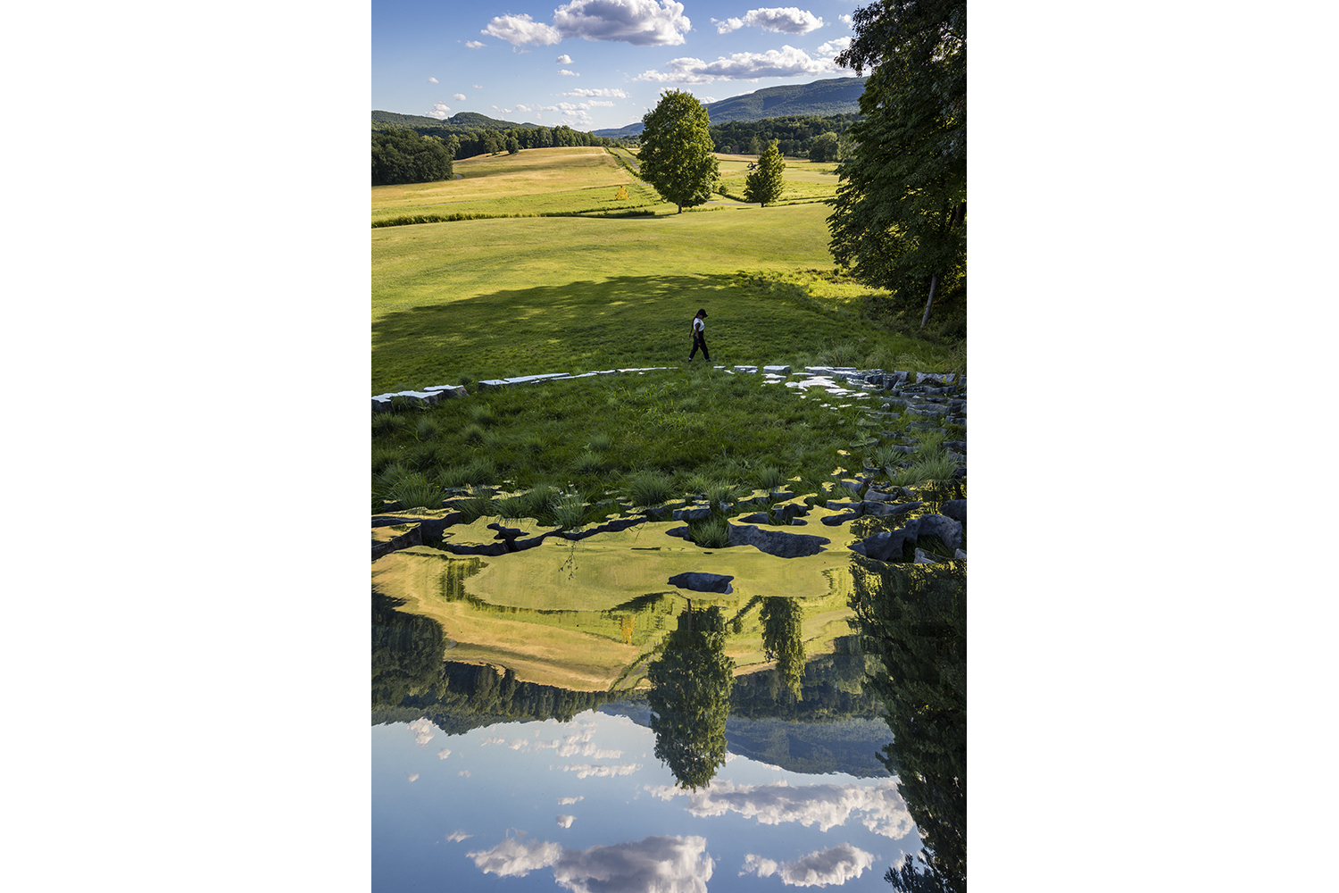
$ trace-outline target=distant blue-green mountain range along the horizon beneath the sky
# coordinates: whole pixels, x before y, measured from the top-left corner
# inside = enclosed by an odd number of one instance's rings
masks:
[[[727,120],[762,120],[786,115],[854,115],[860,112],[860,95],[865,92],[868,78],[832,78],[809,84],[785,84],[766,87],[740,96],[707,103],[711,123]],[[520,127],[533,130],[540,127],[530,122],[516,123],[481,115],[477,111],[462,111],[450,118],[439,119],[430,115],[402,115],[394,111],[374,111],[372,130],[387,127],[455,127],[459,130],[509,130]],[[578,130],[578,129],[574,129]],[[596,137],[635,137],[641,133],[641,122],[627,127],[592,131]]]

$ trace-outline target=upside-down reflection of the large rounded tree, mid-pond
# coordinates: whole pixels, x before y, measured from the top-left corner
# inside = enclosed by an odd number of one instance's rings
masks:
[[[726,620],[720,608],[679,615],[679,629],[651,661],[651,730],[656,756],[680,787],[706,786],[726,762],[726,719],[735,661],[726,657]]]

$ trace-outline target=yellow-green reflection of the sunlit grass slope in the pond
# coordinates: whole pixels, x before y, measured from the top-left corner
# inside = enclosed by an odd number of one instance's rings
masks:
[[[574,689],[636,683],[640,673],[632,671],[674,631],[690,596],[698,608],[720,604],[730,615],[753,594],[799,597],[811,655],[830,653],[833,639],[848,635],[842,612],[850,553],[845,549],[775,558],[738,546],[704,558],[700,549],[665,536],[672,526],[682,523],[597,534],[576,549],[550,540],[482,561],[415,546],[372,562],[372,585],[380,594],[403,598],[402,611],[441,623],[458,643],[450,651],[453,660],[506,665],[520,679]],[[633,545],[648,542],[661,544],[661,550],[632,552]],[[704,568],[734,576],[735,590],[670,590],[667,597],[671,576]],[[817,621],[810,623],[810,616]],[[757,612],[740,625],[739,633],[727,635],[726,655],[757,669],[765,664]]]

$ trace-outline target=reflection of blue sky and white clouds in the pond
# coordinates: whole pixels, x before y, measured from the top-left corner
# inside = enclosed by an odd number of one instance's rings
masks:
[[[886,890],[920,849],[889,778],[731,756],[710,789],[674,785],[625,716],[374,726],[372,889]]]

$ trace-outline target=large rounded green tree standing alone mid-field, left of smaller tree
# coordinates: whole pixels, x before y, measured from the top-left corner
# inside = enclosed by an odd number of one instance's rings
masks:
[[[641,125],[641,179],[678,205],[680,214],[711,198],[719,170],[706,106],[691,92],[670,90]]]

